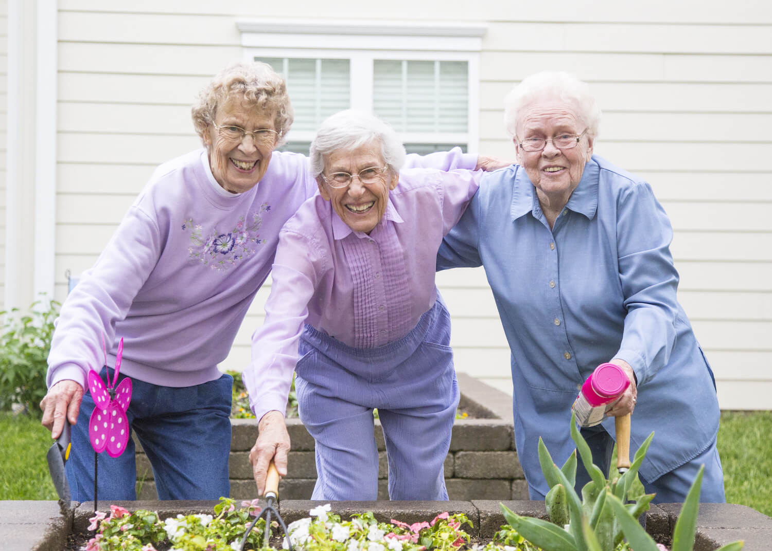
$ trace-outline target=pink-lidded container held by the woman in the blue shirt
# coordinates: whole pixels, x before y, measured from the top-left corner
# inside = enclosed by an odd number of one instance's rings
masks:
[[[615,364],[601,364],[581,386],[571,409],[581,427],[592,427],[603,421],[606,405],[619,398],[630,385],[625,371]]]

